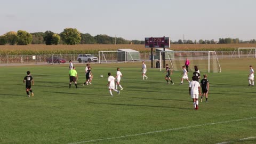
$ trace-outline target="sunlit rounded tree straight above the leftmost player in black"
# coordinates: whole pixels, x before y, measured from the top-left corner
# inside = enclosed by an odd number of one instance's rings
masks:
[[[17,37],[17,45],[28,45],[33,40],[33,36],[25,30],[18,30]]]

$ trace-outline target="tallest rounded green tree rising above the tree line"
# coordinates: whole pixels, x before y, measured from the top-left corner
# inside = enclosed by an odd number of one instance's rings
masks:
[[[81,42],[81,33],[76,28],[65,28],[60,37],[65,44],[79,44]]]

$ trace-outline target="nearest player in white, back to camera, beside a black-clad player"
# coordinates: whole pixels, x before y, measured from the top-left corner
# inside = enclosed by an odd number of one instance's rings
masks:
[[[194,108],[198,109],[198,94],[201,95],[201,89],[199,82],[196,81],[196,77],[193,76],[192,80],[189,83],[189,95],[191,96],[191,99],[193,100]]]

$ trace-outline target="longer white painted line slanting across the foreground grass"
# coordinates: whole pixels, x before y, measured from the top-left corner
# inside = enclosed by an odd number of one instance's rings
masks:
[[[102,139],[94,139],[94,140],[85,140],[85,141],[80,141],[80,142],[71,142],[71,143],[68,143],[68,144],[79,144],[79,143],[94,142],[94,141],[121,139],[121,138],[127,138],[127,137],[135,137],[135,136],[139,136],[139,135],[147,135],[147,134],[159,133],[159,132],[168,132],[168,131],[176,131],[176,130],[182,130],[182,129],[189,129],[191,127],[199,127],[199,126],[206,126],[206,125],[215,125],[215,124],[223,124],[223,123],[230,123],[230,122],[247,121],[247,120],[250,120],[250,119],[256,119],[256,117],[243,118],[243,119],[235,119],[235,120],[231,120],[231,121],[222,121],[222,122],[209,123],[209,124],[193,125],[193,126],[187,126],[187,127],[179,127],[179,128],[160,130],[160,131],[153,131],[153,132],[129,134],[129,135],[123,135],[123,136],[119,136],[119,137],[112,137],[112,138],[102,138]],[[218,144],[224,144],[224,143],[218,143]]]

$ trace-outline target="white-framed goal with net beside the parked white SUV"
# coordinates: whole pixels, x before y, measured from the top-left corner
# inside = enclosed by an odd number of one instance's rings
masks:
[[[139,52],[99,51],[99,63],[116,63],[140,60]]]

